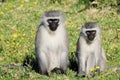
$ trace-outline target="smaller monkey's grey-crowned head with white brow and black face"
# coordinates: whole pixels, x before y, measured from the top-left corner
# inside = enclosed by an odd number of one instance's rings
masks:
[[[82,32],[87,41],[93,41],[97,36],[100,35],[101,29],[96,22],[87,22],[82,27]]]

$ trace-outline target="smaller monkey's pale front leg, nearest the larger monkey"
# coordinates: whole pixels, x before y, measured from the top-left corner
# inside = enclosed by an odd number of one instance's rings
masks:
[[[86,66],[85,63],[86,63],[86,58],[84,56],[78,58],[78,74],[77,74],[77,76],[85,77],[85,66]]]

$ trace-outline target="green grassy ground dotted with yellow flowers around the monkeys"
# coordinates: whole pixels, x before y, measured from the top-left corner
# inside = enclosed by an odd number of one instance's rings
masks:
[[[85,4],[77,0],[51,2],[50,0],[8,0],[0,5],[0,80],[120,80],[120,71],[109,69],[94,78],[75,77],[74,52],[81,26],[87,21],[95,21],[102,26],[102,43],[109,66],[120,66],[120,14],[117,1],[100,4],[79,12]],[[62,10],[66,15],[66,28],[70,40],[69,57],[72,69],[67,75],[51,73],[50,77],[40,75],[30,68],[33,66],[34,39],[40,17],[47,10]],[[23,65],[27,70],[8,69],[2,65]]]

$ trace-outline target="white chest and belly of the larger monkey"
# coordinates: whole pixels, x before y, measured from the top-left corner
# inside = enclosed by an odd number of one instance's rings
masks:
[[[61,53],[64,52],[65,47],[64,43],[63,37],[59,35],[43,37],[41,48],[49,60],[49,71],[60,68]]]

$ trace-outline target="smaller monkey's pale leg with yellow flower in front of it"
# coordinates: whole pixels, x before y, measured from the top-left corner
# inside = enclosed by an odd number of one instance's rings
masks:
[[[86,73],[88,75],[91,75],[92,77],[95,75],[94,74],[94,67],[95,67],[95,56],[94,54],[89,55],[87,59],[87,68],[86,68]]]

